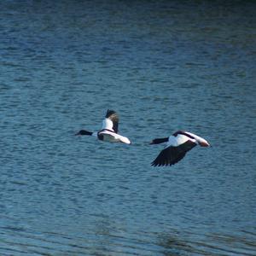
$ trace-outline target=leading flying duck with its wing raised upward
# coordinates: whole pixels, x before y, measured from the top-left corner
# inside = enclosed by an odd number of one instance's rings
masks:
[[[127,137],[118,134],[119,116],[113,111],[109,110],[106,113],[105,119],[102,121],[102,130],[100,131],[85,131],[80,130],[76,135],[89,135],[97,137],[99,140],[109,143],[125,143],[131,144]]]

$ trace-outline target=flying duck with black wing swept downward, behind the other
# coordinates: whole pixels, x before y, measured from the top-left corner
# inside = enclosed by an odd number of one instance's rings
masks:
[[[209,147],[210,144],[202,137],[188,131],[176,131],[170,137],[156,138],[150,144],[166,143],[151,166],[172,166],[182,160],[185,154],[196,145]]]

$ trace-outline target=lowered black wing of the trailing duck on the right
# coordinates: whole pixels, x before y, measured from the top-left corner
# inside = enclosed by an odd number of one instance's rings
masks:
[[[196,146],[196,143],[188,140],[177,147],[170,146],[163,149],[156,159],[151,163],[151,166],[172,166],[182,160],[185,154]]]

